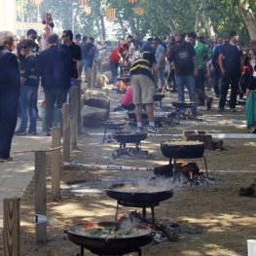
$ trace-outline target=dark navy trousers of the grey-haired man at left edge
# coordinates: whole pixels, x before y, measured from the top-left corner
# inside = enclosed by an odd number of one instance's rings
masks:
[[[0,158],[10,158],[18,118],[18,93],[0,92]]]

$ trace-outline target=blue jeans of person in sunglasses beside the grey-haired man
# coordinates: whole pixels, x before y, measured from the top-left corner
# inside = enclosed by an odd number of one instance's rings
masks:
[[[21,122],[19,129],[26,130],[28,116],[30,119],[29,131],[36,131],[36,108],[35,100],[38,88],[22,85],[20,88]]]

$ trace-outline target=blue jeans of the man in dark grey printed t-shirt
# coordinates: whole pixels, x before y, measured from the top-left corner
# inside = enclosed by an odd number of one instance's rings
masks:
[[[186,86],[189,91],[190,101],[197,103],[196,96],[196,81],[193,75],[190,76],[175,76],[177,91],[178,91],[178,101],[184,102],[184,88]],[[185,109],[181,109],[181,111],[185,111]],[[197,104],[195,107],[191,108],[192,113],[196,113],[198,111]]]

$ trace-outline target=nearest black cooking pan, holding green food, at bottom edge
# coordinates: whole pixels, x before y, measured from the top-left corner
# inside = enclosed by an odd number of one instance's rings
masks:
[[[132,227],[142,231],[142,235],[130,238],[95,238],[91,236],[82,236],[78,230],[88,230],[100,227],[122,227],[119,222],[86,222],[65,231],[68,238],[97,255],[123,255],[129,253],[132,249],[138,249],[151,242],[153,233],[146,226],[134,224]]]

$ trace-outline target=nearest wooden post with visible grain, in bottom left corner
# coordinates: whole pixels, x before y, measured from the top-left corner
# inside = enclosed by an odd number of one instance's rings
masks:
[[[4,199],[4,256],[20,255],[20,199]]]

